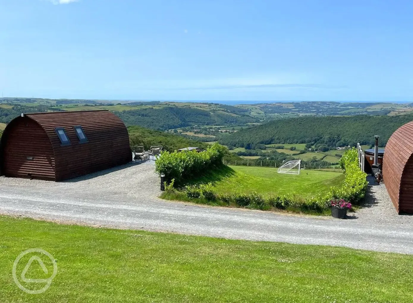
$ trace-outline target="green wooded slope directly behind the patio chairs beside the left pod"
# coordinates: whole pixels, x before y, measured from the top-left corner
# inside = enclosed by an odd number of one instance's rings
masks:
[[[206,143],[190,140],[163,131],[146,129],[141,126],[129,126],[128,132],[131,146],[144,146],[145,150],[148,150],[150,146],[154,145],[161,145],[164,150],[169,151],[188,146],[201,148],[207,148],[208,146]]]

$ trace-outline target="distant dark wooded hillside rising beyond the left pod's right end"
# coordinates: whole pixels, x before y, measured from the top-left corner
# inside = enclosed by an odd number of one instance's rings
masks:
[[[249,116],[230,115],[222,111],[208,112],[195,108],[163,107],[142,108],[114,112],[126,125],[140,125],[151,129],[167,130],[191,125],[244,124],[255,122]]]

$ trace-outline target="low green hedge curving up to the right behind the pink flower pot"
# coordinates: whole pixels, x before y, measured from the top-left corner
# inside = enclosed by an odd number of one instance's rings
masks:
[[[169,191],[164,198],[176,200],[192,200],[198,203],[212,205],[235,205],[245,208],[268,210],[271,207],[302,212],[324,213],[330,209],[330,201],[344,199],[351,204],[359,204],[366,194],[368,182],[367,174],[358,167],[357,151],[347,150],[340,159],[344,169],[345,179],[340,188],[332,187],[327,193],[318,193],[304,199],[296,193],[288,195],[273,195],[265,198],[263,195],[253,193],[222,193],[213,191],[212,183],[186,186],[184,191]]]

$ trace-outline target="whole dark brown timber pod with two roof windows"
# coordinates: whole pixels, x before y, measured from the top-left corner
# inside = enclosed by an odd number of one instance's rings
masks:
[[[126,126],[108,110],[24,114],[7,125],[0,153],[2,175],[53,181],[132,160]]]

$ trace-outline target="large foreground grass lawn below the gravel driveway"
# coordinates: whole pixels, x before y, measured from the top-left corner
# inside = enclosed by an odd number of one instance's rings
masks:
[[[2,303],[413,301],[411,255],[9,217],[0,217],[0,233]],[[15,258],[28,248],[57,260],[50,288],[37,295],[21,291],[12,278]],[[19,262],[17,277],[30,257]],[[42,274],[33,262],[26,277],[50,276]]]

